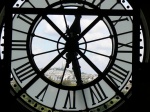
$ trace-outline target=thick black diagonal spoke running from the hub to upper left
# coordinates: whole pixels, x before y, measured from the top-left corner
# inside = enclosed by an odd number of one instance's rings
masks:
[[[57,33],[63,37],[64,40],[67,40],[65,34],[48,18],[46,15],[43,15],[43,18],[57,31]]]

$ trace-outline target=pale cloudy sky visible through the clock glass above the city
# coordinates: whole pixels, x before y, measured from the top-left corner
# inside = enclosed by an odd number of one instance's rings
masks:
[[[18,0],[17,4],[21,4],[22,1]],[[127,2],[125,2],[124,6],[127,7],[129,4]],[[15,5],[16,6],[16,5]],[[131,9],[131,7],[129,8]],[[62,15],[49,15],[48,16],[58,27],[59,29],[61,29],[62,32],[66,32],[66,26],[64,23],[64,17]],[[74,16],[65,16],[66,20],[67,20],[67,25],[70,27],[74,21]],[[80,21],[80,25],[81,25],[81,32],[96,18],[96,16],[82,16],[81,21]],[[62,43],[65,43],[65,40],[60,37],[60,35],[49,25],[49,23],[47,23],[47,21],[42,20],[36,30],[35,30],[35,34],[38,36],[42,36],[44,38],[47,39],[52,39],[55,41],[60,41]],[[4,34],[2,33],[2,36]],[[90,41],[94,39],[99,39],[99,38],[103,38],[103,37],[107,37],[109,36],[109,31],[108,28],[106,26],[106,24],[104,24],[103,21],[100,21],[96,26],[94,26],[85,36],[84,38],[82,38],[79,43],[84,43],[85,40]],[[1,37],[2,37],[1,36]],[[3,43],[3,41],[1,42]],[[63,48],[64,45],[62,44],[58,44],[59,48]],[[46,51],[50,51],[50,50],[56,50],[57,48],[57,43],[56,42],[52,42],[52,41],[47,41],[46,39],[41,39],[38,37],[34,37],[33,41],[32,41],[32,52],[33,54],[38,54],[38,53],[42,53],[42,52],[46,52]],[[85,49],[86,45],[82,44],[80,45],[80,48]],[[1,47],[1,49],[3,49]],[[96,41],[96,42],[91,42],[87,44],[87,49],[90,51],[94,51],[97,53],[101,53],[107,56],[111,55],[112,52],[112,41],[108,38],[108,39],[104,39],[101,41]],[[61,52],[62,50],[59,50],[59,52]],[[85,50],[81,50],[83,53]],[[142,52],[142,51],[141,51]],[[58,51],[55,52],[51,52],[51,53],[46,53],[43,55],[38,55],[35,56],[34,61],[37,64],[38,68],[43,68],[45,67],[55,56],[58,55]],[[100,56],[94,53],[90,53],[88,51],[85,52],[85,55],[95,64],[95,65],[99,65],[98,68],[103,71],[105,69],[105,67],[107,66],[107,64],[109,63],[109,59],[108,57],[105,56]],[[65,56],[63,58],[61,58],[53,67],[57,67],[57,68],[61,68],[65,66],[66,60],[65,60]],[[78,55],[78,58],[80,58],[80,56]],[[82,67],[82,72],[88,72],[88,73],[93,73],[95,74],[95,72],[91,69],[91,67],[82,59],[79,59],[79,63],[80,66]],[[69,69],[72,69],[72,66],[70,64]]]

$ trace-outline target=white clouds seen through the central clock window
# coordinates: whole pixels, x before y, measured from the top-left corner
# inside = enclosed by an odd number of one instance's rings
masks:
[[[61,31],[63,31],[63,32],[66,31],[66,26],[64,23],[64,17],[63,16],[51,15],[48,17],[54,22],[54,24],[56,26],[58,26],[58,28]],[[87,16],[82,17],[82,19],[81,19],[82,31],[85,28],[87,28],[95,18],[96,18],[95,16],[93,16],[93,17],[90,17],[90,16],[89,17],[87,17]],[[71,26],[71,24],[74,21],[74,16],[66,16],[66,19],[67,19],[67,24],[69,26]],[[37,27],[36,33],[38,35],[45,36],[46,38],[50,38],[50,39],[55,39],[57,41],[60,37],[59,34],[45,20],[41,21],[41,23]],[[86,41],[91,41],[94,39],[103,38],[103,37],[108,36],[108,35],[109,35],[109,32],[108,32],[106,25],[104,24],[104,22],[100,21],[85,35],[85,39],[86,39]],[[81,40],[83,41],[83,39],[81,39]],[[35,40],[35,41],[37,41],[37,40]],[[52,43],[52,42],[49,42],[49,43]],[[34,44],[36,44],[35,49],[33,49],[35,53],[43,52],[47,46],[52,47],[51,44],[49,44],[49,45],[48,45],[48,43],[46,44],[46,41],[42,42],[42,41],[38,40]],[[111,45],[112,45],[111,40],[105,39],[105,40],[100,40],[100,41],[88,43],[87,48],[88,48],[88,50],[91,50],[91,51],[94,51],[97,53],[110,55],[111,54],[111,47],[112,47]],[[43,46],[46,46],[46,47],[43,47]],[[45,67],[57,55],[58,55],[58,52],[56,51],[54,53],[48,53],[48,54],[44,54],[44,55],[35,57],[35,61],[37,62],[37,66],[39,66],[39,68]],[[86,51],[86,55],[102,71],[105,69],[105,67],[108,64],[109,60],[107,57],[100,56],[100,55],[93,54],[93,53],[89,53],[88,51]],[[61,59],[57,63],[55,63],[55,65],[53,67],[59,68],[65,62],[66,62],[66,60]],[[79,62],[80,62],[80,65],[82,66],[83,72],[89,72],[89,73],[95,74],[95,71],[90,67],[90,65],[87,64],[87,62],[85,62],[83,59],[80,59]]]

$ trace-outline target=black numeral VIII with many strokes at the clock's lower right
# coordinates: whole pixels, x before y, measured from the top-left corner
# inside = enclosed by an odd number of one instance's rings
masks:
[[[125,80],[128,73],[129,73],[129,71],[127,71],[124,68],[114,64],[110,73],[108,73],[107,77],[110,79],[110,81],[116,87],[119,87],[123,83],[123,81]]]

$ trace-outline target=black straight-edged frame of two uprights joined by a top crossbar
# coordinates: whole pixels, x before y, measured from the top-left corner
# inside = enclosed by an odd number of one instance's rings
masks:
[[[139,66],[140,66],[140,62],[139,62],[139,57],[140,57],[140,53],[139,53],[139,40],[140,40],[140,37],[139,37],[139,32],[137,32],[137,31],[140,31],[140,14],[139,14],[139,3],[137,3],[137,2],[139,2],[139,1],[136,1],[135,2],[135,5],[133,6],[133,11],[127,11],[128,13],[126,13],[126,11],[103,11],[102,13],[103,14],[118,14],[118,15],[121,15],[121,14],[127,14],[127,15],[132,15],[133,16],[133,18],[135,18],[134,20],[133,20],[133,84],[135,84],[135,85],[133,85],[133,94],[134,93],[136,93],[137,91],[138,91],[138,88],[137,88],[137,80],[139,80],[139,77],[137,77],[135,74],[136,73],[138,73],[138,70],[137,70],[137,68],[139,68]],[[11,36],[12,36],[12,33],[11,33],[11,19],[12,19],[12,13],[47,13],[46,11],[41,11],[41,9],[37,9],[37,10],[33,10],[32,9],[32,11],[31,10],[29,10],[29,9],[25,9],[25,10],[17,10],[17,9],[12,9],[11,11],[10,11],[10,9],[12,8],[12,3],[13,2],[10,2],[10,1],[6,1],[6,16],[5,16],[5,27],[6,27],[6,29],[5,29],[5,36],[7,37],[7,38],[5,38],[5,46],[7,46],[7,47],[4,47],[5,49],[4,49],[4,54],[5,54],[5,57],[4,57],[4,60],[3,60],[3,63],[4,63],[4,73],[5,74],[8,74],[8,75],[6,75],[6,76],[3,76],[3,78],[4,79],[9,79],[9,73],[10,73],[10,66],[8,66],[8,63],[10,63],[11,62],[11,59],[10,59],[10,57],[11,57],[11,53],[10,53],[10,49],[11,49]],[[59,10],[56,10],[56,12],[57,13],[61,13]],[[99,12],[96,12],[96,11],[94,11],[96,14],[97,13],[99,13]],[[49,11],[49,13],[53,13],[53,12],[50,12]],[[70,13],[70,11],[69,12],[67,12],[67,10],[66,10],[66,13]],[[71,13],[74,13],[74,11],[73,12],[71,12]],[[83,12],[82,11],[80,11],[80,12],[77,12],[77,13],[86,13],[86,11],[84,11],[83,10]],[[89,14],[90,12],[88,12],[88,14]],[[93,13],[93,12],[91,12],[91,13]],[[137,38],[138,37],[138,38]],[[6,84],[6,87],[9,87],[9,81],[8,81],[8,83]],[[8,88],[6,88],[5,89],[6,91],[9,91],[9,89]],[[136,97],[136,95],[135,95],[135,97]]]

